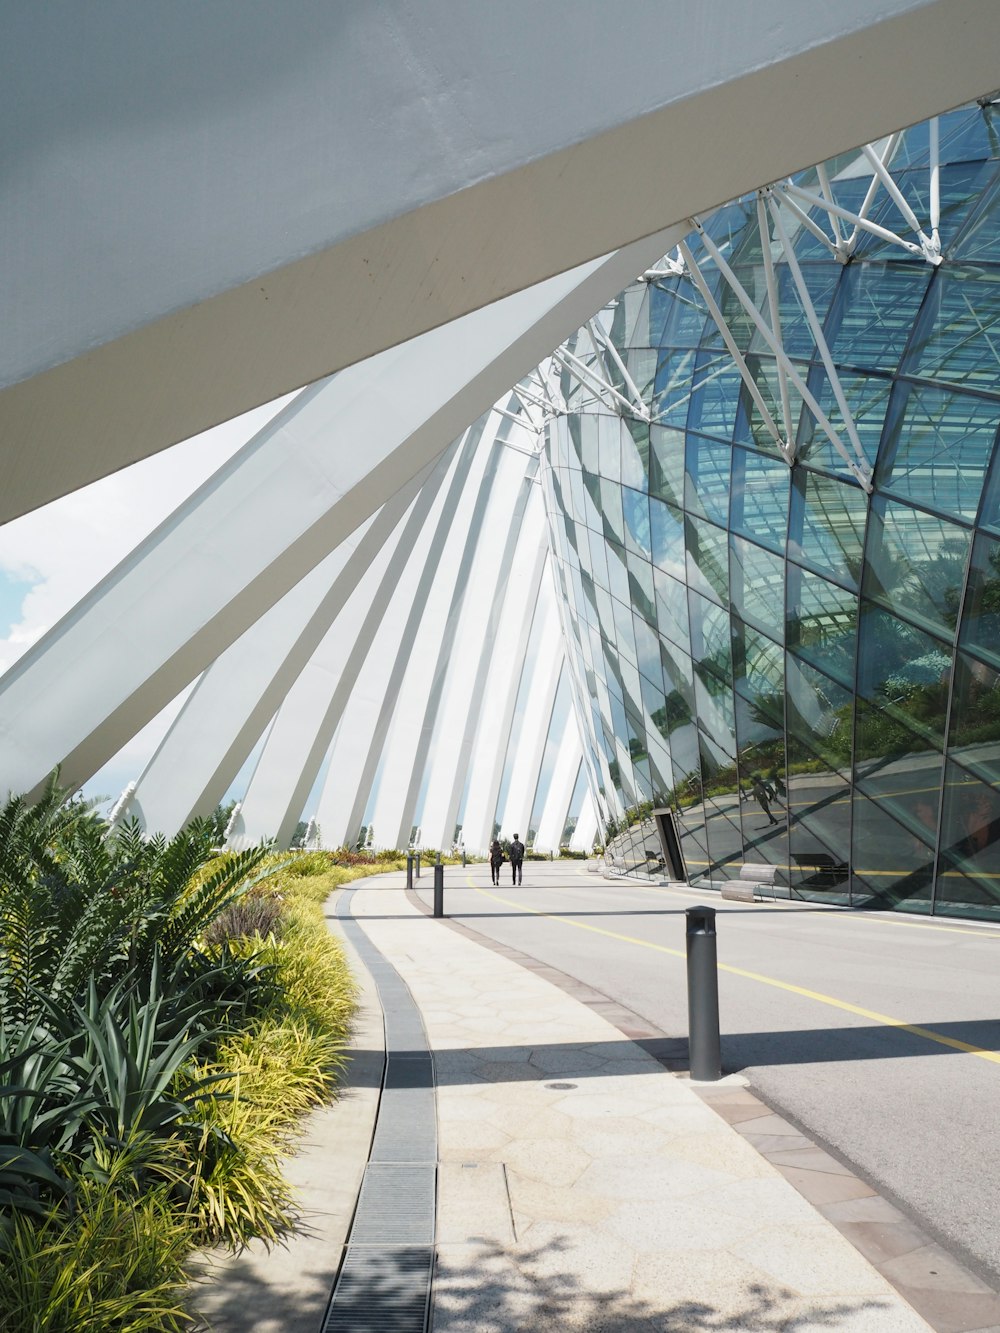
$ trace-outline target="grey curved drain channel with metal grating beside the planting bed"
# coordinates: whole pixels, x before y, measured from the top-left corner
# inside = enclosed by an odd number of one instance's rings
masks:
[[[349,914],[353,894],[337,897],[337,917],[379,990],[385,1076],[323,1333],[427,1333],[437,1186],[433,1065],[409,989]]]

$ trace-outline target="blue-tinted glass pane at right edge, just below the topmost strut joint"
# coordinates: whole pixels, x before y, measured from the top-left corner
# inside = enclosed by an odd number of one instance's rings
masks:
[[[903,363],[907,375],[996,393],[1000,271],[936,269]]]

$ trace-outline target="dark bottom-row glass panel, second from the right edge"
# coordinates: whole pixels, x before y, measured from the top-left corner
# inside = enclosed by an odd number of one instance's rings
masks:
[[[855,905],[929,912],[935,878],[931,846],[875,801],[855,794]]]

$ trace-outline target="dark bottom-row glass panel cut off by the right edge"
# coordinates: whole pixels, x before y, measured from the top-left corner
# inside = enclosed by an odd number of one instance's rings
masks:
[[[1000,792],[957,764],[945,774],[937,909],[1000,916]]]

